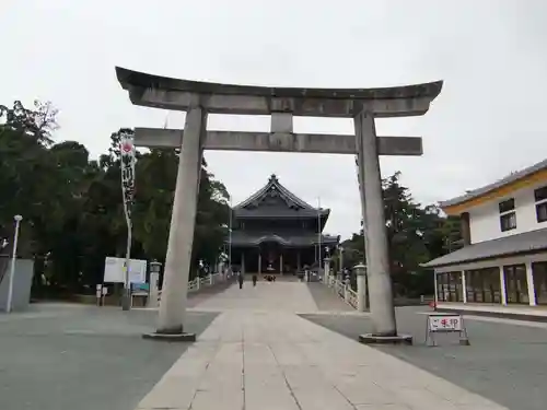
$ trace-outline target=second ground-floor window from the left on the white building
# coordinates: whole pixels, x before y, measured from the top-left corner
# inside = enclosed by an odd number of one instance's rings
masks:
[[[486,268],[465,272],[467,302],[501,303],[500,269]]]

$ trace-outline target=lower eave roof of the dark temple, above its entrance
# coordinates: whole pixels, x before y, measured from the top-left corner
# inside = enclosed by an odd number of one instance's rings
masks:
[[[321,235],[321,243],[325,245],[337,244],[340,236]],[[234,231],[232,233],[232,245],[257,246],[267,242],[276,242],[283,246],[311,246],[318,243],[318,235],[314,233],[255,233]]]

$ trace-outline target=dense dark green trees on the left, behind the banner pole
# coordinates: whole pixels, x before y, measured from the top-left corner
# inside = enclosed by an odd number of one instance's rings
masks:
[[[22,214],[18,253],[35,259],[33,293],[93,293],[105,257],[125,255],[119,140],[132,131],[113,132],[108,151],[95,161],[78,142],[54,143],[56,114],[50,103],[0,106],[0,241],[8,244],[0,253],[11,251],[13,215]],[[132,258],[164,262],[177,163],[175,150],[137,153]],[[214,263],[228,212],[228,191],[203,161],[193,267]]]

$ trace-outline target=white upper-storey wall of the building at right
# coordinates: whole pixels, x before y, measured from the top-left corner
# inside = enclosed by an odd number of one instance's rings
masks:
[[[547,222],[538,223],[536,220],[536,204],[534,200],[534,189],[545,185],[547,185],[547,181],[520,189],[507,197],[497,198],[469,209],[472,244],[547,227]],[[510,198],[514,198],[515,200],[516,229],[501,232],[498,204]]]

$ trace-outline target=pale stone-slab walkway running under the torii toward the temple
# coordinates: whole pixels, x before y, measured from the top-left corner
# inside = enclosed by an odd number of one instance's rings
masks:
[[[223,313],[138,409],[504,409],[296,316],[317,311],[304,283],[234,285],[197,308]]]

